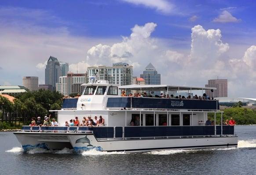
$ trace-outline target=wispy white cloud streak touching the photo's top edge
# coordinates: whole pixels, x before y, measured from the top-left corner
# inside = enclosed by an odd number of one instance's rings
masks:
[[[174,10],[174,5],[167,0],[123,0],[124,2],[142,5],[148,8],[156,9],[163,14],[170,14]]]

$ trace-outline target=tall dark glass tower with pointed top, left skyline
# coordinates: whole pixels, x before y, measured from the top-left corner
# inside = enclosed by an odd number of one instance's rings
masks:
[[[45,68],[45,84],[51,84],[52,90],[55,91],[56,83],[59,82],[61,76],[60,64],[57,58],[50,56]]]

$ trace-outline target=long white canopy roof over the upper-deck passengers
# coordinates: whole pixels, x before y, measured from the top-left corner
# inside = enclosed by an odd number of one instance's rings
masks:
[[[179,85],[140,85],[140,84],[131,84],[125,86],[119,86],[119,89],[129,89],[129,90],[144,90],[144,91],[187,91],[187,90],[205,90],[216,88],[205,88],[205,87],[195,87],[195,86],[179,86]]]

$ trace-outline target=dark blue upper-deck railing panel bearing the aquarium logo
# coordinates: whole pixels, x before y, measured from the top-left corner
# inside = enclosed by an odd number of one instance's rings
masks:
[[[112,97],[108,98],[106,108],[219,110],[219,101],[176,98]]]

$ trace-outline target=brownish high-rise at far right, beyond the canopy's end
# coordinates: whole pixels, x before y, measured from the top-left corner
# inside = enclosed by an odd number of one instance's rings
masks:
[[[216,90],[205,90],[205,93],[210,97],[227,97],[227,79],[212,79],[205,84],[207,88],[217,88]],[[214,95],[214,96],[213,96]]]

